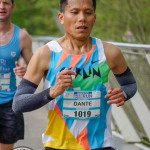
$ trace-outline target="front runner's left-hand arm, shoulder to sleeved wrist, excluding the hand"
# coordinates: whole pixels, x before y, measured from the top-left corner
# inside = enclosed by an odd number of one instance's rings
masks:
[[[17,88],[13,100],[15,112],[26,112],[42,107],[50,101],[49,89],[35,94],[49,66],[50,52],[47,46],[39,48],[31,58],[24,78]]]

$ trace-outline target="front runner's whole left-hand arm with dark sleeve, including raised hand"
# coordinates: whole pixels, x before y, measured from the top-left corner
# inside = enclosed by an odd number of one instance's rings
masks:
[[[13,110],[15,112],[27,112],[38,109],[58,95],[61,95],[67,87],[73,86],[71,75],[75,75],[75,73],[70,69],[64,69],[56,75],[56,82],[53,87],[34,93],[49,67],[49,58],[50,52],[47,46],[40,48],[31,58],[27,72],[14,96]]]

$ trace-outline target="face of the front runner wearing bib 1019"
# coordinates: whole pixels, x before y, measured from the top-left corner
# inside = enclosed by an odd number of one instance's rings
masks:
[[[90,36],[96,15],[92,0],[68,0],[64,11],[58,14],[66,35],[85,39]]]

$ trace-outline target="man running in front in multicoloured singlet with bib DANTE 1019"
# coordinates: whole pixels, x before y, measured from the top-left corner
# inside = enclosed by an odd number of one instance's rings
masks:
[[[122,106],[136,92],[120,49],[90,36],[95,9],[96,0],[60,0],[65,34],[36,51],[15,95],[15,112],[49,102],[45,150],[114,150],[111,104]],[[109,88],[110,70],[120,87]],[[34,94],[45,74],[45,90]]]

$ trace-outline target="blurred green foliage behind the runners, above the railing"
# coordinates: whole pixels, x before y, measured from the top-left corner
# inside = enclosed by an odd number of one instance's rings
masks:
[[[33,36],[61,36],[59,0],[15,0],[12,22]],[[92,31],[105,41],[150,43],[150,0],[97,0]]]

